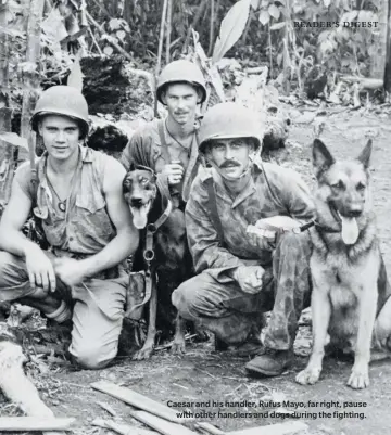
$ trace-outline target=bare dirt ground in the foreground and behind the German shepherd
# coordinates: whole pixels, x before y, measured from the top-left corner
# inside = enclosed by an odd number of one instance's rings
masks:
[[[313,107],[314,110],[316,107]],[[305,108],[306,113],[311,111]],[[313,112],[315,115],[315,112]],[[311,118],[311,116],[310,116]],[[314,125],[324,125],[321,139],[329,145],[337,157],[358,155],[366,138],[374,138],[374,154],[371,163],[373,192],[375,208],[378,216],[381,251],[386,258],[388,270],[391,270],[391,153],[389,153],[390,118],[384,114],[368,114],[365,111],[327,114],[317,116],[311,124],[293,124],[287,149],[272,156],[281,165],[294,167],[313,184],[311,176],[311,142]],[[300,330],[297,340],[297,359],[294,367],[274,379],[249,379],[245,375],[245,359],[235,357],[230,353],[216,353],[211,342],[189,345],[184,357],[172,356],[167,350],[157,351],[149,361],[134,362],[129,359],[118,359],[116,363],[101,371],[77,371],[67,363],[52,360],[49,369],[38,373],[37,366],[31,372],[43,400],[53,408],[56,415],[76,417],[75,435],[111,433],[91,426],[96,418],[110,419],[108,411],[99,402],[110,405],[117,413],[117,420],[139,425],[129,417],[129,407],[94,392],[90,383],[98,380],[110,380],[128,386],[139,393],[154,398],[162,404],[172,401],[203,402],[193,412],[281,412],[287,420],[289,411],[302,402],[298,412],[306,412],[302,418],[310,426],[305,434],[336,435],[382,435],[390,433],[391,414],[391,364],[389,361],[371,366],[371,385],[365,391],[352,391],[345,386],[351,363],[328,359],[318,384],[304,387],[294,383],[295,373],[304,367],[311,346],[311,333],[307,322]],[[248,402],[260,400],[268,402],[290,404],[278,406],[250,408]],[[213,406],[213,401],[223,406]],[[232,401],[241,406],[230,407]],[[247,402],[245,402],[247,401]],[[311,407],[310,401],[318,402]],[[350,404],[345,404],[350,402]],[[353,404],[352,404],[353,402]],[[240,405],[240,404],[239,404]],[[243,406],[244,405],[244,406]],[[353,405],[353,406],[351,406]],[[1,404],[0,404],[1,406]],[[180,409],[179,409],[180,410]],[[181,409],[184,410],[184,409]],[[11,409],[12,411],[12,409]],[[1,414],[10,414],[10,407],[3,405]],[[333,412],[337,411],[337,414]],[[320,414],[326,412],[325,414]],[[344,415],[341,413],[345,412]],[[353,412],[351,417],[350,412]],[[310,414],[311,413],[311,414]],[[327,414],[328,413],[328,414]],[[323,417],[321,417],[323,415]],[[279,418],[205,418],[224,431],[277,423]],[[262,432],[260,432],[261,434]],[[304,433],[302,433],[304,435]]]

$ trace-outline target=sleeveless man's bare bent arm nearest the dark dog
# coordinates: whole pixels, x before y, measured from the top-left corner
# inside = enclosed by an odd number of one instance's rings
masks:
[[[116,266],[137,250],[139,233],[133,225],[130,210],[123,195],[122,182],[125,174],[124,167],[114,159],[105,165],[103,192],[108,213],[117,234],[98,254],[79,261],[87,277]]]

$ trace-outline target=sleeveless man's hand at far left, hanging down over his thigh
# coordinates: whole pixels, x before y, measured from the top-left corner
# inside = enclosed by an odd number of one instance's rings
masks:
[[[25,248],[25,259],[31,289],[39,286],[45,292],[54,292],[54,268],[45,252],[35,243],[28,244]]]

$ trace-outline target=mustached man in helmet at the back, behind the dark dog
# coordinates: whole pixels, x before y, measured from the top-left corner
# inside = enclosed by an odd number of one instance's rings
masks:
[[[131,164],[153,169],[168,183],[174,204],[184,208],[200,163],[197,107],[206,98],[200,68],[185,60],[167,64],[157,80],[156,98],[166,106],[167,117],[137,130],[121,162],[127,170]]]

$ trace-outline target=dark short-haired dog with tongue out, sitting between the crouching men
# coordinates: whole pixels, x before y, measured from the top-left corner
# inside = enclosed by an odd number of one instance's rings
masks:
[[[130,207],[134,225],[140,230],[140,245],[135,255],[133,270],[146,270],[146,254],[150,259],[149,273],[152,280],[152,292],[149,300],[147,340],[143,347],[134,356],[134,359],[141,360],[149,358],[153,353],[156,317],[165,320],[164,328],[173,324],[176,310],[172,305],[171,296],[181,282],[191,277],[192,260],[187,246],[184,212],[175,207],[167,210],[168,188],[157,182],[152,169],[143,166],[130,167],[123,182],[123,192]],[[151,228],[149,227],[151,225],[154,226],[164,214],[166,215],[163,223],[153,231],[151,245],[147,241],[148,228]],[[137,277],[134,279],[137,281]],[[135,286],[137,287],[136,281],[131,282],[130,279],[130,293]],[[144,293],[144,289],[142,292]],[[129,299],[127,315],[135,308],[131,306],[135,294],[128,294]],[[172,351],[185,353],[184,322],[179,316],[176,320]]]

